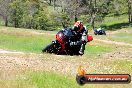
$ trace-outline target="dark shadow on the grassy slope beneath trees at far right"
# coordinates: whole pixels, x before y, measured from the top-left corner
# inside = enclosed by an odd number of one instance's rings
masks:
[[[113,24],[109,26],[104,25],[105,29],[111,30],[111,31],[115,31],[121,28],[128,28],[128,27],[132,27],[132,23],[117,23],[117,24]]]

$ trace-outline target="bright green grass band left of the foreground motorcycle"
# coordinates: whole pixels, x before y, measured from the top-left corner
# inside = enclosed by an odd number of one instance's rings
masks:
[[[40,52],[43,45],[50,43],[43,37],[19,37],[0,34],[0,48],[25,52]]]

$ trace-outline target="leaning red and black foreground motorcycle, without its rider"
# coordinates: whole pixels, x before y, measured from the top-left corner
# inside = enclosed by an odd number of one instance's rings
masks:
[[[69,41],[74,37],[73,33],[69,29],[61,30],[56,34],[56,40],[42,49],[42,52],[54,53],[58,55],[80,55],[80,45],[70,46]],[[90,42],[93,40],[92,36],[85,35],[82,39]],[[87,43],[86,42],[86,43]]]

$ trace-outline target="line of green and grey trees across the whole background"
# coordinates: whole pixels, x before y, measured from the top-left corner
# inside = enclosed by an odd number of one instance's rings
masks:
[[[132,0],[0,0],[5,26],[16,28],[56,30],[80,17],[94,28],[96,21],[121,14],[132,23]]]

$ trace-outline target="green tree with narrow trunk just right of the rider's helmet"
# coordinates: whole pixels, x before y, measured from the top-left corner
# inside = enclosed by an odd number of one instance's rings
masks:
[[[95,28],[95,21],[103,20],[109,14],[109,7],[112,0],[89,0],[84,1],[85,13],[89,15],[88,22],[91,23],[92,28]]]

